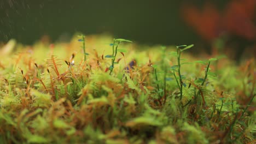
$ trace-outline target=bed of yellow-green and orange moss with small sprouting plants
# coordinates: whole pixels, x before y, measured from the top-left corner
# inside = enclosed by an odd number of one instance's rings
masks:
[[[255,142],[253,58],[79,37],[2,47],[0,143]]]

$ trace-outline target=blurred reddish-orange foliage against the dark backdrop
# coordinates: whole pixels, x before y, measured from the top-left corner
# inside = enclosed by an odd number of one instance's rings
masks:
[[[194,5],[182,7],[184,20],[205,40],[212,41],[222,34],[237,35],[247,40],[256,38],[255,0],[234,0],[223,11],[211,3],[202,10]]]

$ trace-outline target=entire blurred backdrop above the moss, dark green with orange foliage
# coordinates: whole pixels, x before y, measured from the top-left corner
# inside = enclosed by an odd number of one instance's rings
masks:
[[[0,41],[108,33],[138,44],[255,49],[255,0],[0,0]],[[249,48],[248,48],[249,47]],[[254,52],[255,53],[255,52]],[[234,54],[237,58],[237,54]]]

